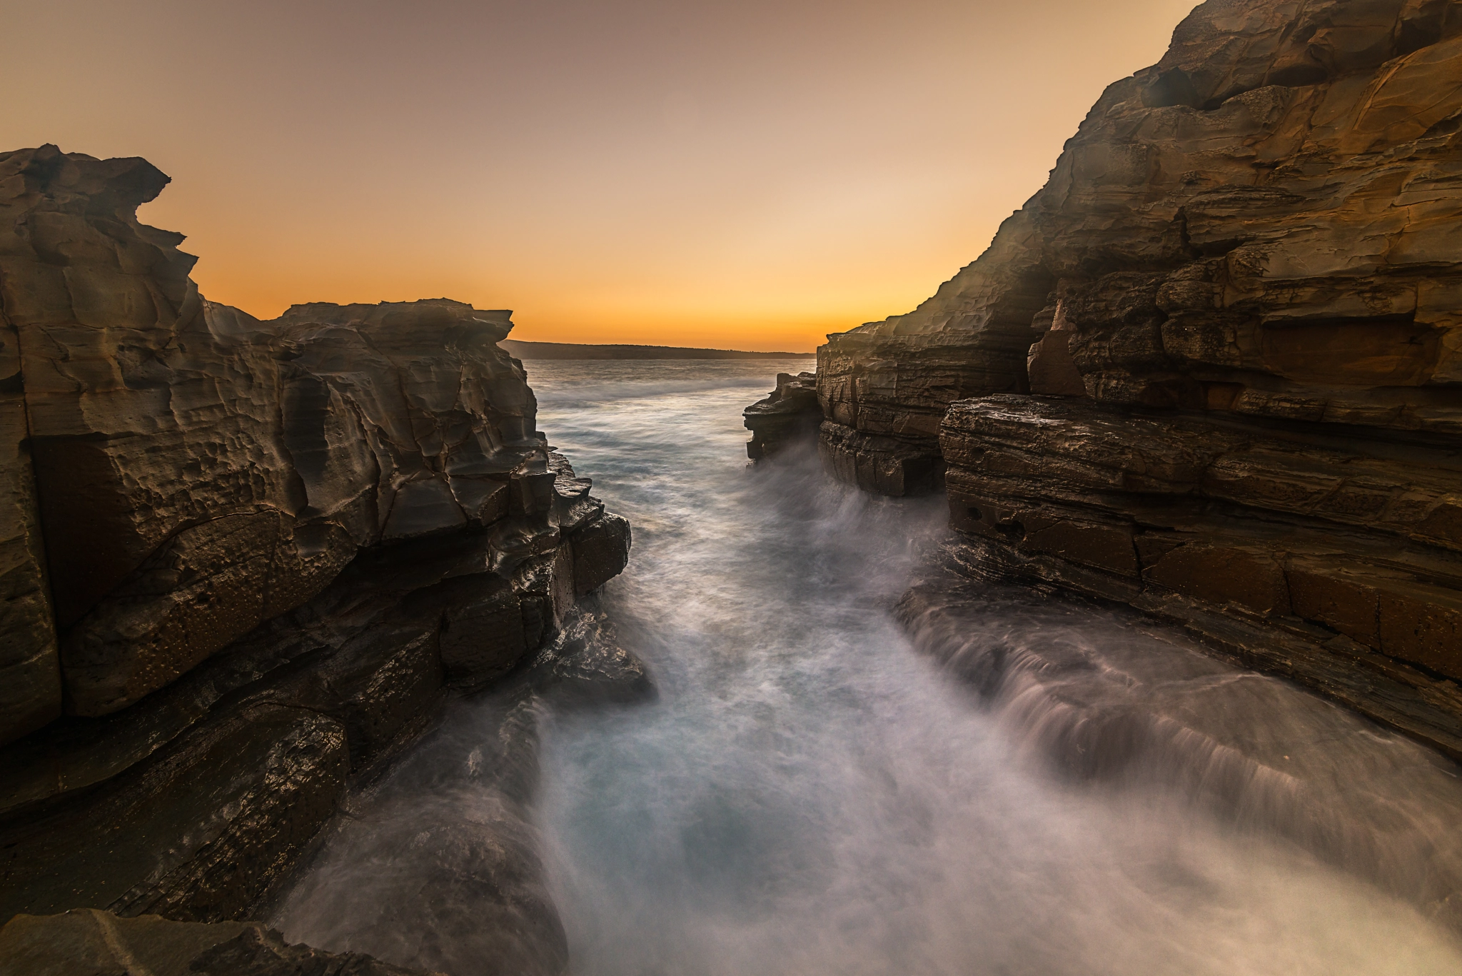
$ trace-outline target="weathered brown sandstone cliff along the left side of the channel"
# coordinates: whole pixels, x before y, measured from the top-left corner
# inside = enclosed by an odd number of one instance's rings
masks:
[[[0,155],[0,919],[238,917],[629,553],[507,312],[205,301],[167,181]]]

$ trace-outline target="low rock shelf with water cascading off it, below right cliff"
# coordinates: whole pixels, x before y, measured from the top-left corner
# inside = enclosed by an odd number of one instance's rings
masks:
[[[952,555],[895,612],[1035,758],[1076,781],[1173,790],[1462,926],[1462,843],[1437,817],[1462,799],[1455,762],[1287,680],[1212,660],[1129,610],[971,581],[981,572],[972,553]],[[1257,647],[1270,663],[1288,657],[1313,677],[1366,686],[1373,701],[1404,701],[1399,682],[1344,656],[1298,641]]]

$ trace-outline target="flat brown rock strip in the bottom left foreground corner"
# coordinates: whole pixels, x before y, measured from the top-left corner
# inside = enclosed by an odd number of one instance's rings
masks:
[[[427,976],[357,953],[288,945],[256,922],[124,919],[95,909],[18,915],[0,929],[9,976]]]

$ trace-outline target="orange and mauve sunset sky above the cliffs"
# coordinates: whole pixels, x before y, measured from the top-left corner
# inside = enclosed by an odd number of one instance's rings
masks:
[[[906,312],[1192,0],[0,0],[0,149],[142,155],[209,299],[810,351]]]

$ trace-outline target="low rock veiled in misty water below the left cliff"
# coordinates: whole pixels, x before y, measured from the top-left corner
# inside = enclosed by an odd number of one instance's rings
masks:
[[[604,615],[569,610],[531,666],[453,704],[409,755],[352,789],[272,917],[291,938],[402,964],[566,972],[531,808],[539,723],[654,695]]]

